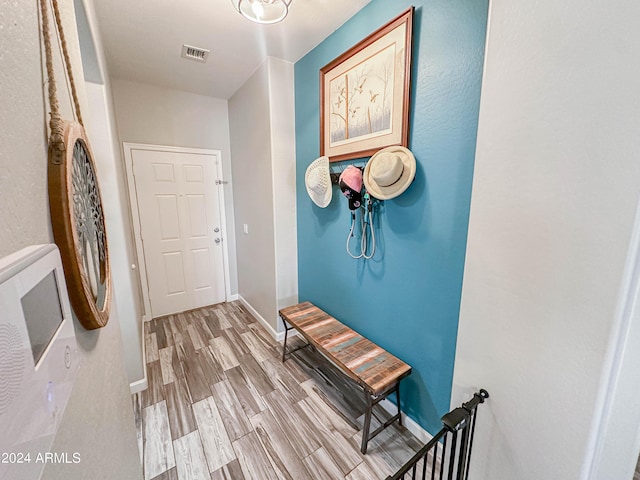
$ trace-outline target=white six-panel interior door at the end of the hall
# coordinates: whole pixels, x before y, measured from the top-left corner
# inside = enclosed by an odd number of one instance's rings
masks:
[[[151,316],[225,300],[216,155],[132,150]]]

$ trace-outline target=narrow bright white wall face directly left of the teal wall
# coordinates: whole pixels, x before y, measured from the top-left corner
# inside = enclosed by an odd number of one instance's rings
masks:
[[[278,310],[298,303],[293,63],[269,57],[269,102]]]

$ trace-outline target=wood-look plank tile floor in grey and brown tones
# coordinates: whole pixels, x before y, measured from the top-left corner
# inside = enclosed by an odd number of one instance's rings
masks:
[[[144,334],[149,388],[133,406],[146,480],[384,479],[421,446],[396,423],[362,455],[362,392],[311,348],[282,363],[238,302]]]

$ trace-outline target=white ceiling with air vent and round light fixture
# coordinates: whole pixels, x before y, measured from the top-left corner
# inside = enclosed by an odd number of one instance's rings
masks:
[[[96,1],[112,76],[229,98],[266,56],[295,62],[371,0],[293,0],[279,24],[258,25],[231,0]],[[182,45],[211,50],[207,63]]]

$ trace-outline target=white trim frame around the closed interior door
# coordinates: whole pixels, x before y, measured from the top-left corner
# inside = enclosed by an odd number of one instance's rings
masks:
[[[231,276],[229,274],[229,249],[227,247],[227,215],[226,204],[224,201],[224,177],[222,174],[222,151],[211,150],[206,148],[191,148],[191,147],[172,147],[168,145],[151,145],[146,143],[131,143],[123,142],[122,148],[124,152],[124,164],[127,177],[127,187],[129,192],[129,206],[131,207],[131,222],[133,239],[136,247],[136,255],[138,256],[138,271],[140,278],[140,289],[142,293],[142,303],[145,310],[146,320],[151,320],[151,300],[149,298],[149,282],[147,280],[147,267],[144,256],[144,247],[142,245],[142,236],[140,228],[140,211],[138,209],[138,196],[136,194],[136,184],[133,176],[133,151],[134,150],[146,150],[154,152],[168,152],[168,153],[187,153],[194,155],[211,155],[217,158],[215,165],[216,181],[220,182],[218,185],[211,185],[212,188],[216,188],[218,194],[218,208],[220,209],[220,224],[224,228],[222,236],[222,268],[224,272],[224,294],[225,301],[230,301],[231,297]],[[132,268],[135,268],[132,265]]]

